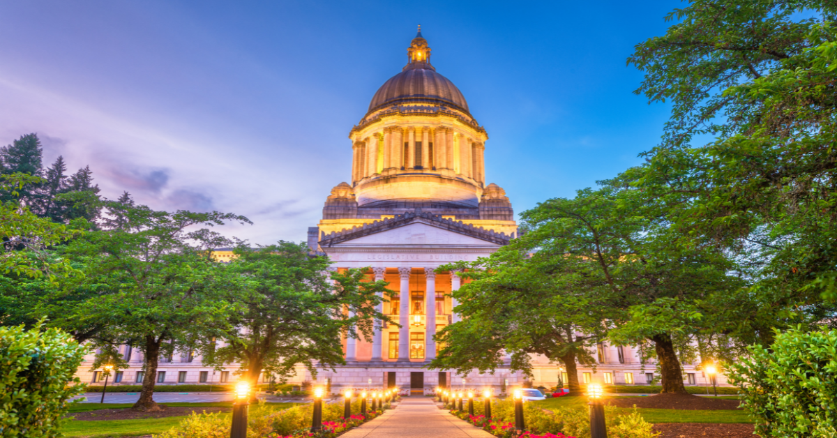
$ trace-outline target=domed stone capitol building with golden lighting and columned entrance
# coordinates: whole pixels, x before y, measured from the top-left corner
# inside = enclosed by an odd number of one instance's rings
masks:
[[[440,349],[434,334],[458,319],[450,293],[463,281],[456,272],[436,269],[488,256],[517,235],[505,190],[486,183],[485,154],[492,152],[485,128],[456,85],[436,71],[431,54],[419,28],[407,49],[407,64],[377,90],[349,132],[351,174],[331,189],[322,219],[307,235],[311,250],[327,255],[331,269],[370,267],[370,280],[388,281],[394,295],[379,310],[401,327],[379,324],[371,342],[344,338],[345,365],[323,369],[316,377],[300,367],[289,383],[327,381],[334,392],[397,386],[417,393],[460,387],[463,379],[478,388],[524,383],[525,376],[508,367],[468,376],[426,368]],[[131,367],[121,370],[117,384],[145,379],[141,354],[131,350],[121,350]],[[634,348],[600,343],[592,353],[595,369],[578,365],[582,384],[659,379],[655,364],[640,363]],[[566,384],[557,363],[534,357],[532,365],[533,376],[527,379],[533,386]],[[90,362],[80,368],[83,381],[97,379],[89,368]],[[158,384],[231,383],[238,379],[237,368],[230,364],[216,372],[203,366],[199,356],[185,354],[161,361],[155,379]],[[693,365],[683,363],[683,368],[687,385],[707,383]]]

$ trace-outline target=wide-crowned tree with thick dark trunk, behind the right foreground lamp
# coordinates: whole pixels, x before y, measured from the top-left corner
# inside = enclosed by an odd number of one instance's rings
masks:
[[[698,335],[716,333],[718,321],[703,310],[716,296],[732,295],[742,280],[721,251],[678,245],[668,202],[618,180],[603,182],[521,214],[532,229],[521,240],[547,251],[553,263],[572,262],[557,272],[567,276],[567,286],[584,285],[608,307],[608,338],[652,344],[662,392],[686,394],[677,352],[689,352]]]

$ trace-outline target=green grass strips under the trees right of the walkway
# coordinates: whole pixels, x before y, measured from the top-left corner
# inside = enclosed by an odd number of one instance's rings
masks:
[[[559,397],[533,401],[543,409],[586,407],[586,397]],[[753,423],[752,417],[743,410],[665,410],[665,409],[637,409],[639,415],[649,423]],[[629,412],[630,409],[620,408],[619,411]]]

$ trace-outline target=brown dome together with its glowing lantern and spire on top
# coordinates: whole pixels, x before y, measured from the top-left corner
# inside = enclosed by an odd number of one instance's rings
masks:
[[[407,49],[408,64],[377,90],[369,103],[369,112],[397,103],[429,102],[453,106],[470,114],[468,102],[460,89],[448,78],[436,73],[430,64],[430,53],[419,26],[419,33]]]

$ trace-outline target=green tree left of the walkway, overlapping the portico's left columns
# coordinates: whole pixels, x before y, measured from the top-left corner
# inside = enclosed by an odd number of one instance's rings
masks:
[[[315,362],[321,368],[344,363],[342,334],[371,341],[373,322],[395,323],[375,310],[383,300],[378,294],[388,292],[385,281],[365,281],[363,269],[329,276],[329,260],[309,255],[305,243],[239,245],[235,254],[228,270],[247,281],[229,299],[242,306],[229,317],[224,345],[203,338],[201,351],[204,363],[239,362],[251,384],[263,371],[284,377],[301,363],[316,374]]]

